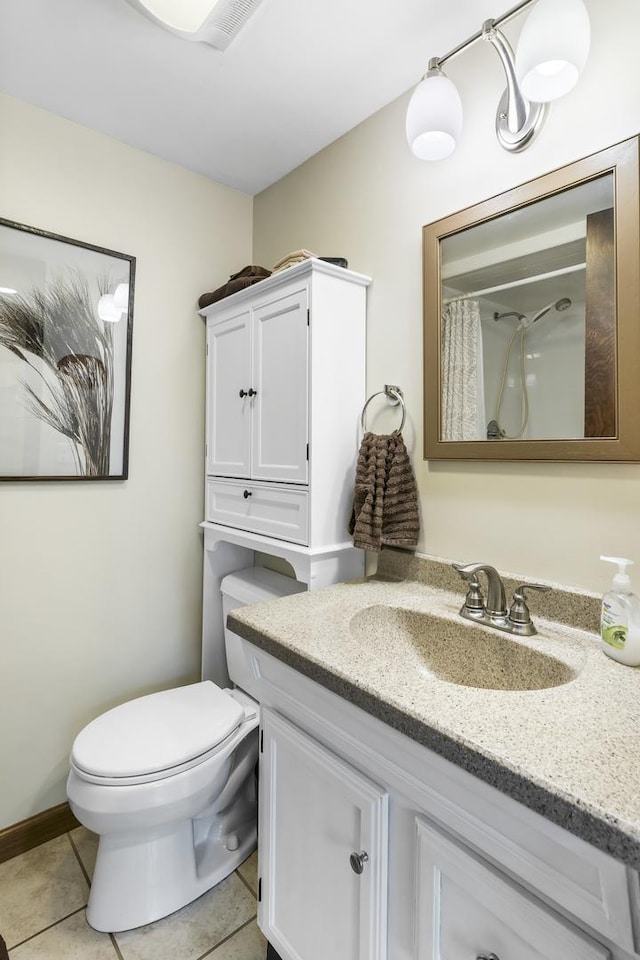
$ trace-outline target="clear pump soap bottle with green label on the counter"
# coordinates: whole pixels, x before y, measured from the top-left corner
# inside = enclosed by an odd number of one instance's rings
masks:
[[[625,557],[600,559],[618,566],[611,590],[602,598],[602,649],[619,663],[640,666],[640,600],[631,592],[631,580],[627,575],[627,567],[633,560]]]

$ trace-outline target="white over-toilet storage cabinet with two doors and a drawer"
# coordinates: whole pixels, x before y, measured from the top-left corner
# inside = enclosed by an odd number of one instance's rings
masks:
[[[368,283],[308,260],[202,311],[207,522],[312,548],[345,543]]]

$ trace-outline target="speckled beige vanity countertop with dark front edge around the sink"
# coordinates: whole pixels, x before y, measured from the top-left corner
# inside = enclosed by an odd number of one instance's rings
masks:
[[[535,600],[531,594],[538,635],[513,638],[562,661],[573,675],[570,682],[517,691],[461,686],[427,669],[420,644],[408,642],[394,627],[393,617],[402,620],[405,614],[384,608],[437,615],[445,639],[450,631],[455,636],[468,629],[504,634],[469,627],[460,617],[463,592],[456,576],[452,581],[437,563],[430,570],[429,563],[412,564],[404,579],[385,579],[387,570],[383,577],[237,608],[229,626],[411,739],[639,868],[640,670],[604,656],[594,629],[584,629],[595,628],[597,598],[564,588],[536,594]],[[391,575],[397,577],[398,570]],[[569,626],[572,622],[582,629]],[[376,623],[384,628],[377,631]]]

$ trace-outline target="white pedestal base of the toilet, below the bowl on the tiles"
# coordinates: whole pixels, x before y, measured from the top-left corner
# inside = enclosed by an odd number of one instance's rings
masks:
[[[200,840],[201,821],[169,826],[143,836],[100,837],[87,905],[94,930],[117,933],[174,913],[228,877],[256,848],[255,819],[233,834]]]

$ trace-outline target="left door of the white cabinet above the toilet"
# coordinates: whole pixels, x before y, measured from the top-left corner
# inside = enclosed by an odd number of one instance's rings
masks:
[[[251,317],[248,309],[207,328],[207,473],[251,475]]]

